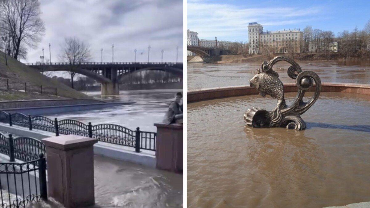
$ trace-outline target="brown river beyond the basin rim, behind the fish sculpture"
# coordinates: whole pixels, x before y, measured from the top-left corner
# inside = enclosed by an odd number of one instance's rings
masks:
[[[297,61],[303,71],[316,72],[322,82],[341,82],[370,84],[370,61]],[[248,80],[253,77],[261,63],[188,63],[187,77],[188,90],[227,87],[235,85],[249,85]],[[290,64],[281,61],[274,65],[283,83],[292,83],[294,80],[287,76],[286,70]]]

